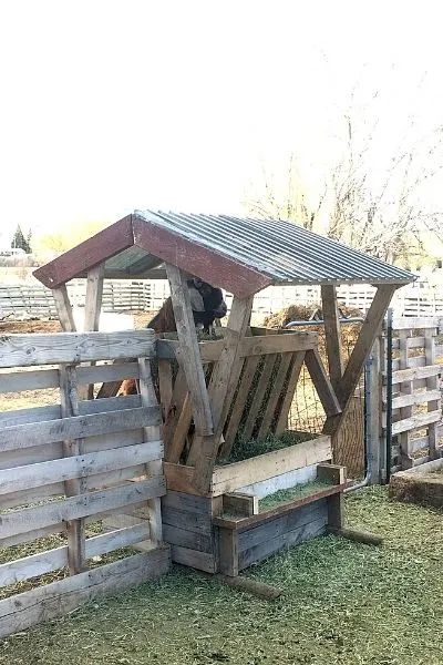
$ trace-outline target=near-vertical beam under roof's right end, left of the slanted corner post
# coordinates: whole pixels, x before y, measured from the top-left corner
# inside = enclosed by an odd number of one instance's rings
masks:
[[[326,348],[328,354],[329,378],[337,389],[343,375],[341,355],[340,313],[333,285],[321,286],[321,301],[324,320]]]

